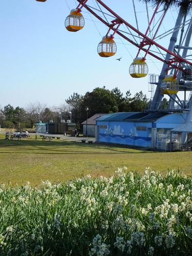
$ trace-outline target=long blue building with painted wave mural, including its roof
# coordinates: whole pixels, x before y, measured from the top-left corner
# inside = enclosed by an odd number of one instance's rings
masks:
[[[97,119],[97,141],[156,148],[158,135],[185,122],[186,113],[123,112]]]

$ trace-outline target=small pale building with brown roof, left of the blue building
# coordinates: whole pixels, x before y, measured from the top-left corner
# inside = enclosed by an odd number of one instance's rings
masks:
[[[82,122],[83,126],[83,135],[86,136],[86,131],[88,129],[88,136],[89,137],[96,137],[97,136],[97,125],[96,121],[99,117],[104,116],[106,114],[95,114],[94,116],[90,117],[88,120]]]

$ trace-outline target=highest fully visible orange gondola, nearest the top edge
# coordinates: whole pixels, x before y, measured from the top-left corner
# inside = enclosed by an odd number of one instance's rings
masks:
[[[70,15],[67,16],[65,26],[68,31],[77,32],[84,27],[84,18],[77,10],[72,10]]]

